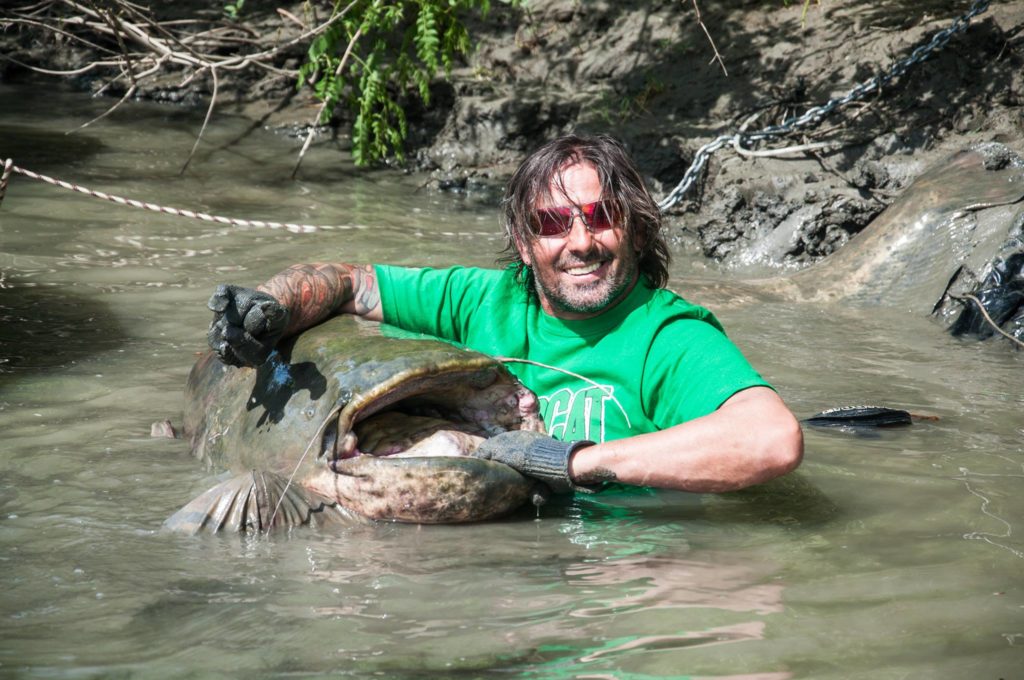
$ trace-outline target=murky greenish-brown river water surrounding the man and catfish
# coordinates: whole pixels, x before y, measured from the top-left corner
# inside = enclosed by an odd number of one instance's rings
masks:
[[[195,112],[0,87],[0,156],[291,233],[159,215],[15,175],[0,206],[0,677],[1013,678],[1024,673],[1024,353],[900,309],[761,304],[730,336],[806,417],[797,474],[712,496],[575,499],[461,526],[183,538],[214,471],[180,423],[220,282],[296,261],[488,265],[493,202],[420,189]],[[679,277],[717,274],[681,255]],[[685,291],[683,291],[685,295]],[[696,300],[699,301],[699,300]]]

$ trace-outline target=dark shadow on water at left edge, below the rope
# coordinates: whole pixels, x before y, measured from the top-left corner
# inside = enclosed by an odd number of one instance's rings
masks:
[[[116,349],[127,335],[106,305],[66,288],[0,288],[0,385],[27,371],[57,368]]]

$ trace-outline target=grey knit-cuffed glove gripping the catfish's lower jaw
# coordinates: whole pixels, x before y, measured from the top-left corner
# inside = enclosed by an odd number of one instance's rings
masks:
[[[586,439],[559,441],[539,432],[512,430],[485,439],[473,456],[505,463],[527,477],[545,482],[555,494],[570,494],[594,491],[574,483],[569,477],[569,458],[592,445],[594,442]]]

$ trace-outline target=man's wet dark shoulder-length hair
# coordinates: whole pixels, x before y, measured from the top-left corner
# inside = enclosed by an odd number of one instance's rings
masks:
[[[601,181],[601,197],[611,202],[634,245],[638,245],[640,274],[653,288],[669,283],[672,255],[662,233],[662,212],[644,184],[636,164],[622,142],[608,135],[565,135],[538,148],[519,166],[502,201],[505,249],[499,262],[515,267],[516,279],[534,290],[532,271],[516,248],[538,239],[531,225],[538,201],[551,197],[552,179],[567,166],[590,163]]]

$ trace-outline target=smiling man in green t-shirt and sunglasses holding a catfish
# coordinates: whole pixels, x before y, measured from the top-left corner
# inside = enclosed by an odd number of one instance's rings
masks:
[[[296,265],[258,292],[220,287],[210,344],[257,365],[281,337],[351,313],[523,359],[509,369],[540,397],[551,436],[500,434],[475,455],[556,492],[724,492],[800,464],[800,425],[781,398],[711,312],[665,289],[660,216],[617,141],[546,144],[504,205],[504,269]]]

